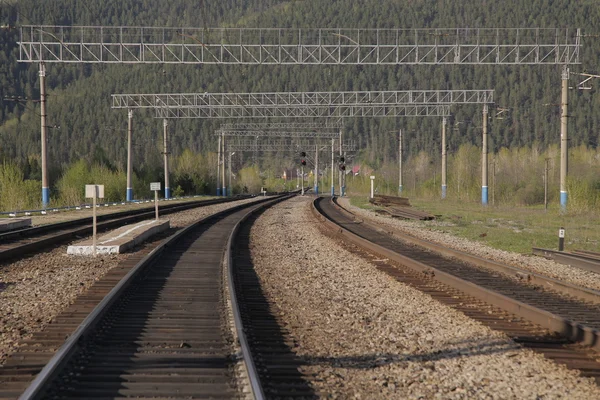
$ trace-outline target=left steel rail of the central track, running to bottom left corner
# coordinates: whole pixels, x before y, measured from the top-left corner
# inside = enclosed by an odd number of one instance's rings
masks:
[[[271,199],[264,199],[260,201],[268,201]],[[27,387],[25,392],[19,397],[20,400],[33,400],[41,398],[44,392],[47,390],[48,385],[51,381],[60,374],[64,367],[68,364],[69,360],[79,350],[80,344],[83,340],[89,337],[94,330],[94,327],[101,321],[102,317],[110,310],[113,305],[121,296],[121,294],[131,285],[133,280],[140,275],[140,273],[149,265],[151,265],[158,257],[160,257],[170,246],[173,246],[179,239],[185,237],[186,234],[196,229],[199,225],[210,219],[215,219],[223,215],[231,214],[232,212],[239,211],[243,208],[250,207],[251,204],[240,204],[229,208],[224,211],[220,211],[216,214],[202,218],[196,221],[194,224],[182,228],[164,241],[162,241],[154,250],[152,250],[146,257],[138,262],[116,285],[115,287],[102,299],[102,301],[94,307],[92,312],[83,320],[83,322],[75,329],[72,335],[70,335],[65,343],[58,349],[50,361],[44,366],[40,373],[35,377],[31,384]]]

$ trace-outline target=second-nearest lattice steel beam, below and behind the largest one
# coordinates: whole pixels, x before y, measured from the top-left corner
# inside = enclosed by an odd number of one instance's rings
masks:
[[[112,108],[331,107],[491,104],[494,90],[113,94]]]

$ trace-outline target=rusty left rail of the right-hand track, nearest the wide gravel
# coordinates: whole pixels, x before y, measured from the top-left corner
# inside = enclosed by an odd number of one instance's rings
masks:
[[[378,256],[389,258],[399,264],[412,268],[418,272],[428,275],[431,279],[439,281],[445,285],[461,290],[469,295],[476,297],[484,302],[493,304],[505,311],[525,318],[533,323],[536,323],[546,329],[558,332],[562,336],[580,342],[584,345],[600,350],[600,331],[583,326],[579,323],[567,320],[558,315],[555,315],[538,307],[523,303],[512,299],[496,291],[485,289],[472,282],[468,282],[449,273],[437,270],[430,265],[423,264],[404,255],[390,250],[386,247],[370,242],[369,240],[351,232],[350,230],[336,224],[330,217],[322,213],[319,208],[319,202],[323,198],[317,198],[313,202],[313,213],[330,229],[336,231],[338,235],[344,239],[354,243],[355,245],[367,249],[369,252],[375,253]],[[389,232],[388,232],[389,234]],[[591,292],[591,291],[588,291]]]

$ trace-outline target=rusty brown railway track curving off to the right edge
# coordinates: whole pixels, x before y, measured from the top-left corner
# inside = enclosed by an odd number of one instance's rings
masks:
[[[329,198],[314,211],[328,234],[395,279],[600,382],[599,292],[386,232]]]

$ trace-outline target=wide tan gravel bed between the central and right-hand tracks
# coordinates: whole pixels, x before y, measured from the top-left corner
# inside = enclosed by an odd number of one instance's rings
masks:
[[[577,371],[521,349],[323,236],[297,197],[252,228],[253,262],[324,397],[592,399]]]

